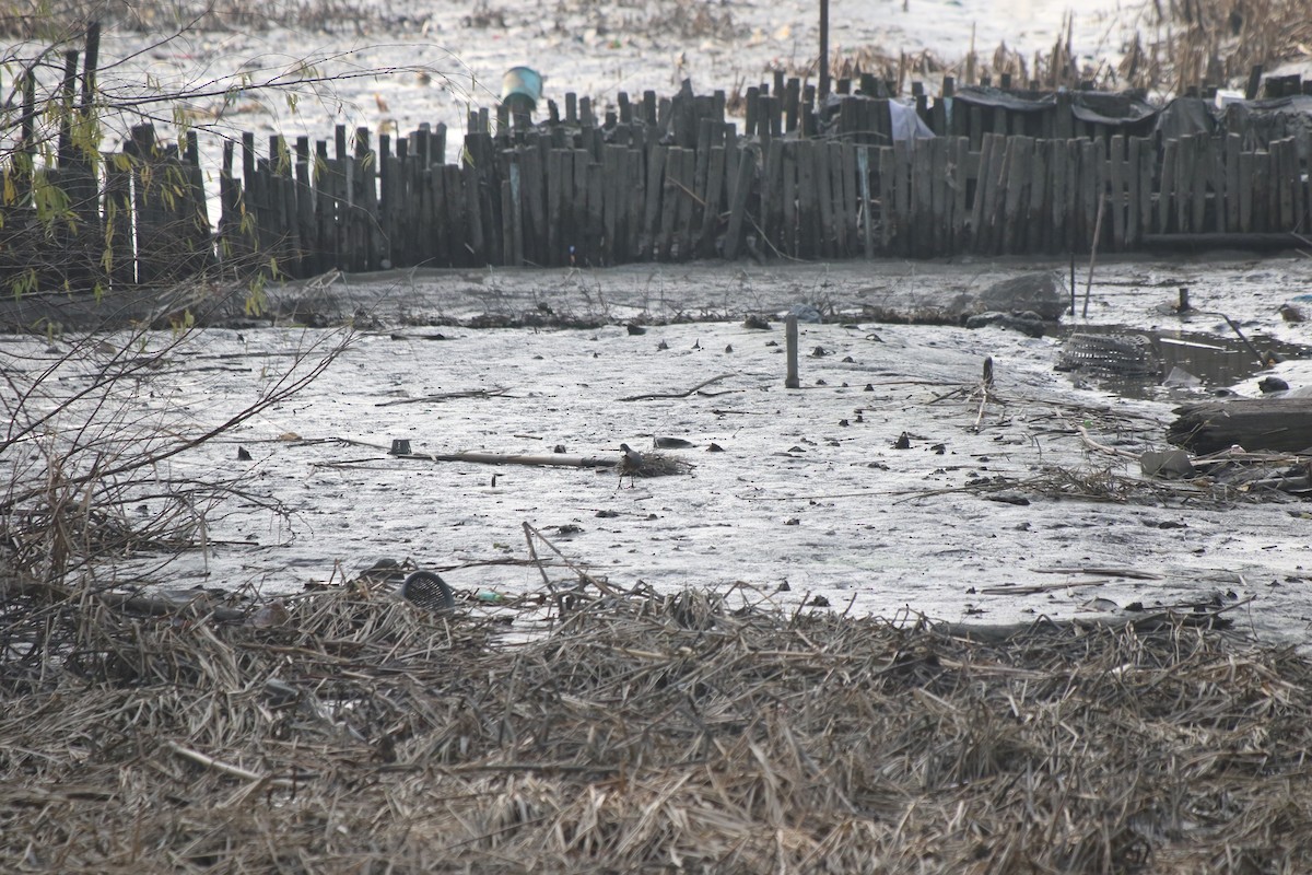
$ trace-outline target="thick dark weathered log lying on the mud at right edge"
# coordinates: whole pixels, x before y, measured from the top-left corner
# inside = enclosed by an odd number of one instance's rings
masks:
[[[1166,439],[1198,454],[1235,445],[1245,450],[1307,453],[1312,449],[1312,399],[1204,401],[1176,408]]]

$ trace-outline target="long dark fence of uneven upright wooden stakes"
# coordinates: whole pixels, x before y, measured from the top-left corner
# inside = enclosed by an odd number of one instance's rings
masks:
[[[331,143],[273,136],[262,153],[245,135],[224,146],[213,234],[194,136],[161,146],[140,127],[121,156],[100,163],[102,178],[83,171],[79,182],[79,245],[113,257],[47,258],[41,279],[159,282],[215,265],[310,277],[413,265],[1064,254],[1309,227],[1312,129],[1294,114],[1275,125],[1236,114],[1215,132],[1165,138],[1134,121],[1082,121],[1068,93],[1035,112],[949,100],[949,81],[937,100],[916,94],[935,135],[895,139],[890,100],[871,96],[883,83],[851,85],[837,83],[824,102],[798,80],[749,88],[743,132],[727,121],[723,92],[695,96],[685,84],[670,98],[621,94],[600,119],[571,94],[563,113],[548,104],[537,126],[502,117],[495,135],[487,113],[471,114],[454,161],[442,125],[377,143],[367,129],[338,127]],[[98,192],[91,206],[88,192]],[[33,213],[20,202],[0,216],[9,237],[0,274],[10,279],[25,247],[51,245],[24,210]],[[68,245],[68,235],[56,243]]]

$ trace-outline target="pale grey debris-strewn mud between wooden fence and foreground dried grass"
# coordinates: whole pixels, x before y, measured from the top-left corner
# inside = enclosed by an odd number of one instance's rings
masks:
[[[1172,408],[1204,390],[1127,400],[1055,373],[1052,337],[859,317],[863,304],[908,289],[932,300],[1035,266],[1043,265],[698,265],[338,282],[310,295],[315,307],[350,312],[369,302],[380,329],[356,336],[289,403],[167,462],[174,478],[243,478],[245,497],[207,513],[207,550],[159,569],[167,555],[138,558],[117,573],[272,594],[340,581],[388,558],[442,569],[466,594],[513,594],[542,585],[525,564],[530,523],[623,589],[743,581],[774,592],[786,582],[777,596],[785,605],[821,596],[832,610],[850,603],[858,614],[911,610],[984,623],[1219,596],[1252,598],[1232,614],[1240,627],[1304,640],[1312,505],[1282,495],[1218,501],[1206,487],[1143,480],[1128,455],[1165,449]],[[1286,324],[1277,312],[1312,290],[1312,260],[1303,257],[1111,264],[1097,274],[1089,321],[1229,333],[1216,316],[1183,324],[1158,312],[1178,286],[1245,333],[1312,341],[1307,323]],[[795,303],[820,304],[838,321],[803,327],[802,388],[790,391],[774,320]],[[546,307],[604,324],[425,324]],[[774,328],[745,328],[748,312],[766,314]],[[680,314],[722,319],[626,329]],[[150,342],[169,340],[159,333]],[[295,327],[197,332],[142,383],[131,418],[198,434],[249,405],[286,369],[287,353],[328,340],[327,331]],[[823,356],[812,354],[817,348]],[[996,387],[980,416],[985,357]],[[1312,384],[1307,361],[1274,373],[1294,387]],[[719,379],[705,394],[623,400],[678,395],[711,378]],[[1235,388],[1257,395],[1254,378]],[[1092,450],[1081,426],[1124,454]],[[895,449],[904,433],[909,447]],[[691,441],[668,453],[695,468],[630,488],[614,470],[386,453],[403,438],[416,454],[538,455],[563,445],[569,455],[618,460],[621,443],[646,451],[652,436]],[[724,451],[707,451],[711,443]],[[239,460],[239,447],[252,458]],[[1061,472],[1122,478],[1123,500],[1055,497]],[[998,493],[979,485],[994,478],[1014,481],[1002,496],[1029,504],[992,500]],[[273,502],[290,518],[270,513]],[[551,575],[573,579],[562,567]]]

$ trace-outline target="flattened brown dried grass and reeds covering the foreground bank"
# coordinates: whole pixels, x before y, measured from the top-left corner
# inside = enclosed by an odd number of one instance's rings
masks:
[[[8,871],[1295,871],[1312,664],[1168,624],[971,641],[745,589],[510,640],[10,597]],[[497,609],[504,617],[513,614]],[[525,615],[526,617],[526,615]]]

